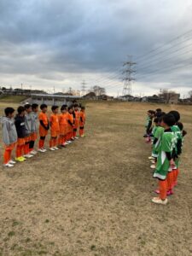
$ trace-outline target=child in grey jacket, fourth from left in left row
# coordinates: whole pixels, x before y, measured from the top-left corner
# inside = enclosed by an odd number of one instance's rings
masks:
[[[35,141],[38,138],[38,104],[32,104],[32,135],[31,141],[29,143],[29,152],[30,154],[37,154],[38,152],[34,150]]]

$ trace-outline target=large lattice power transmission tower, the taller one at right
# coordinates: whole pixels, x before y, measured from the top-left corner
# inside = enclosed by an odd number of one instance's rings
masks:
[[[126,61],[123,65],[123,67],[125,67],[125,70],[123,71],[123,74],[125,75],[124,77],[124,89],[123,89],[123,96],[126,95],[131,95],[132,93],[132,81],[135,81],[136,79],[134,79],[132,77],[133,73],[136,73],[136,70],[133,69],[133,67],[136,65],[136,62],[131,61]]]

